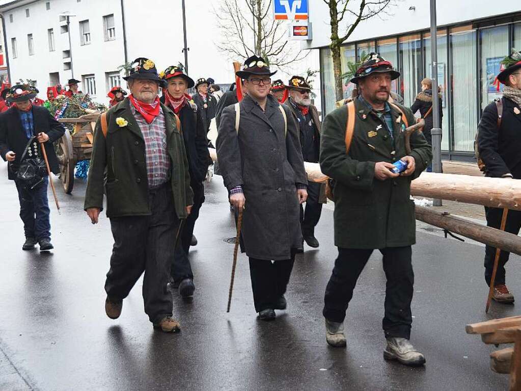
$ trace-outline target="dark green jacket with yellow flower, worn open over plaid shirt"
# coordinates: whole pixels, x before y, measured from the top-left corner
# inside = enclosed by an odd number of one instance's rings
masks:
[[[146,216],[151,214],[148,203],[145,143],[139,125],[130,111],[128,97],[107,112],[107,137],[100,119],[94,131],[89,179],[84,209],[103,209],[103,194],[107,196],[107,217]],[[165,115],[167,149],[171,160],[170,185],[179,218],[186,218],[186,206],[193,204],[187,154],[183,136],[176,127],[173,112],[161,104]],[[119,126],[117,118],[128,124]]]

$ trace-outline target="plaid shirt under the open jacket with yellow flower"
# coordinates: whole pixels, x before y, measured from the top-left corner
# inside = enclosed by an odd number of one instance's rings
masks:
[[[156,189],[170,178],[171,163],[166,148],[165,115],[159,107],[159,115],[148,124],[134,106],[130,105],[130,109],[145,140],[148,189]]]

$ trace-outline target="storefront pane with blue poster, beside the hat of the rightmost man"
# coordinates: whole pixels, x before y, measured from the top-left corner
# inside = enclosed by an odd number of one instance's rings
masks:
[[[495,79],[508,54],[508,26],[479,31],[481,38],[481,109],[501,97],[504,85]]]

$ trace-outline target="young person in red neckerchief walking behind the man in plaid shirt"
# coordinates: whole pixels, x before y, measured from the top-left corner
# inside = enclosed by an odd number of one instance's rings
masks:
[[[210,154],[201,112],[190,100],[190,95],[186,94],[187,89],[194,86],[194,81],[184,74],[181,65],[166,68],[161,76],[167,82],[161,99],[181,120],[184,146],[188,157],[190,187],[194,192],[192,212],[181,230],[179,245],[170,268],[172,287],[178,286],[179,294],[182,297],[190,297],[193,295],[195,286],[188,252],[193,238],[195,221],[199,217],[199,210],[204,202],[203,181],[208,172]]]

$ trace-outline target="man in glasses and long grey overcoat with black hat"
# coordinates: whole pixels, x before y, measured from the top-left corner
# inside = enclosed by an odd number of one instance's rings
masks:
[[[237,76],[249,93],[224,109],[217,137],[230,203],[244,209],[242,250],[250,258],[255,310],[262,320],[286,309],[284,293],[295,252],[302,249],[299,204],[307,198],[299,130],[289,108],[269,95],[274,74],[263,58],[246,60]]]

